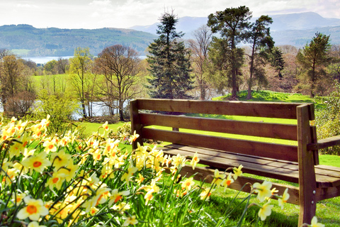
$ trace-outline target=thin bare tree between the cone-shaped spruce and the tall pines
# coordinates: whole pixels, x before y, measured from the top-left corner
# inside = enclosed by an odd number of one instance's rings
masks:
[[[196,77],[197,87],[200,89],[200,100],[205,100],[208,89],[208,81],[205,78],[205,71],[208,64],[208,51],[212,41],[212,33],[208,26],[201,26],[193,33],[195,39],[189,40],[191,49],[191,60],[193,73]]]

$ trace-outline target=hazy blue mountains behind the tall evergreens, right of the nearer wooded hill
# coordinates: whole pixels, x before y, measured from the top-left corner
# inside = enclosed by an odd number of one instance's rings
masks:
[[[317,13],[289,13],[273,15],[271,35],[276,45],[295,45],[302,47],[309,42],[317,32],[331,35],[332,44],[340,44],[340,19],[324,18]],[[257,18],[252,18],[255,21]],[[184,38],[193,38],[193,31],[208,23],[208,17],[183,17],[179,18],[177,31],[186,33]],[[131,29],[156,34],[157,25],[134,26]]]

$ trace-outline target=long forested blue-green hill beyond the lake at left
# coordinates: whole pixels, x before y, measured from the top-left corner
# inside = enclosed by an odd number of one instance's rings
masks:
[[[26,49],[28,56],[72,56],[74,49],[90,48],[98,55],[103,48],[120,44],[145,55],[145,49],[157,36],[142,31],[118,28],[60,29],[34,28],[30,25],[0,26],[0,48]]]

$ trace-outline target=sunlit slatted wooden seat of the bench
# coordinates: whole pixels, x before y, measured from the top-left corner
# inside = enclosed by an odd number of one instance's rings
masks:
[[[201,164],[220,168],[220,170],[243,165],[244,172],[250,174],[281,179],[293,183],[298,183],[299,179],[297,162],[285,162],[283,160],[268,158],[262,159],[248,155],[234,155],[232,153],[219,153],[217,150],[204,150],[188,146],[181,147],[180,145],[166,145],[163,151],[166,154],[177,155],[179,153],[188,157],[192,157],[197,151]],[[216,153],[218,153],[218,156],[216,156]],[[340,168],[337,168],[337,170],[338,172],[323,170],[321,167],[316,168],[317,187],[338,187],[340,185]]]

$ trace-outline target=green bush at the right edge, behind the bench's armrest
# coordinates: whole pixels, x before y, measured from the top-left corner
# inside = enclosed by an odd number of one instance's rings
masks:
[[[331,136],[340,135],[340,84],[336,82],[334,92],[329,96],[319,97],[325,104],[323,109],[319,109],[315,113],[318,139],[329,138]],[[328,155],[340,155],[340,147],[334,146],[321,150],[322,153]]]

